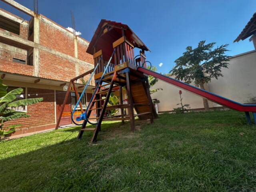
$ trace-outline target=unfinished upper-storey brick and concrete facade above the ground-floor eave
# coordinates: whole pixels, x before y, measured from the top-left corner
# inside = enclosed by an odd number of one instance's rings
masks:
[[[86,53],[89,42],[45,16],[28,22],[2,9],[0,15],[20,23],[20,35],[0,29],[0,72],[68,82],[94,68],[93,56]],[[30,40],[29,25],[34,28]],[[31,54],[33,66],[28,66]],[[26,64],[14,63],[12,58],[25,60]]]

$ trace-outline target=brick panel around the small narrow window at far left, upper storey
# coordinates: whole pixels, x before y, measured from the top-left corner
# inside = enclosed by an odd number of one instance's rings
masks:
[[[12,58],[27,60],[27,54],[6,50],[0,47],[0,70],[3,72],[33,75],[34,66],[12,62]]]

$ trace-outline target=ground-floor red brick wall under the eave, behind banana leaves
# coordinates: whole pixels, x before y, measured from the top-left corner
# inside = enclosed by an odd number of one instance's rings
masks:
[[[55,124],[54,90],[28,88],[28,92],[26,94],[30,94],[27,98],[42,97],[44,100],[27,106],[27,114],[30,115],[29,118],[12,120],[10,122],[6,122],[5,126],[22,124],[22,126],[16,128],[21,129]],[[36,96],[36,94],[38,94],[38,96]],[[18,132],[18,130],[16,132]]]

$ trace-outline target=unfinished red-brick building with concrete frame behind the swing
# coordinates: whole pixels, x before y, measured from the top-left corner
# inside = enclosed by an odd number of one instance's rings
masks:
[[[8,125],[22,124],[13,135],[54,128],[66,93],[64,86],[70,79],[94,68],[93,57],[86,53],[89,42],[13,0],[2,1],[31,19],[26,21],[0,9],[0,76],[9,90],[24,88],[20,98],[44,98],[40,103],[17,108],[31,117]],[[82,92],[82,81],[76,86]],[[82,101],[83,108],[90,100],[92,88],[90,84]],[[71,92],[60,125],[71,124],[70,112],[75,103],[75,94]]]

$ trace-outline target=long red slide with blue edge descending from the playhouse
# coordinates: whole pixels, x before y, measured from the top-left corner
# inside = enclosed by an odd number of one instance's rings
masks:
[[[181,89],[184,89],[186,91],[192,92],[193,94],[196,94],[198,96],[204,97],[214,103],[220,104],[222,106],[226,106],[228,108],[241,111],[241,112],[256,112],[256,104],[241,104],[235,101],[232,101],[230,99],[224,98],[222,96],[216,95],[214,93],[208,92],[206,90],[202,90],[196,86],[192,86],[190,84],[186,84],[182,81],[176,80],[174,78],[159,74],[157,72],[148,70],[143,67],[139,67],[137,69],[138,71],[154,76],[155,78],[158,78],[162,81],[165,81],[167,83],[170,83],[176,87],[179,87]]]

